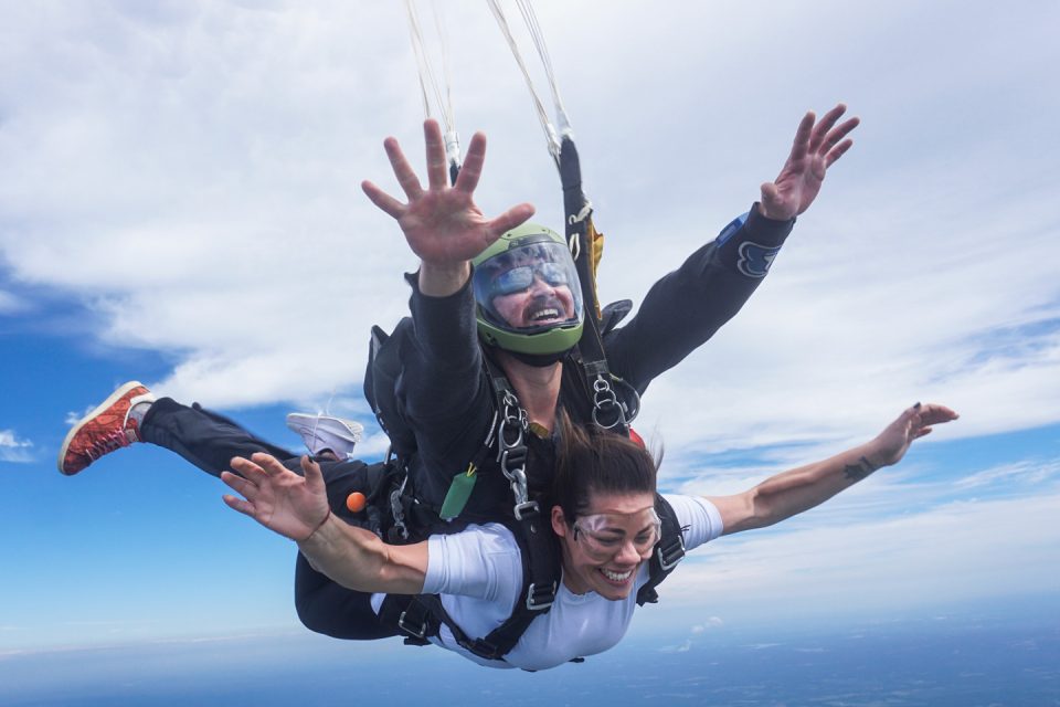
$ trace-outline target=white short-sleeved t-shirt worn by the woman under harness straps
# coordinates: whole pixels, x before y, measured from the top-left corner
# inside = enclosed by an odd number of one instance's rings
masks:
[[[721,515],[706,498],[666,496],[691,550],[722,532]],[[425,594],[442,594],[442,604],[469,636],[485,636],[511,615],[522,592],[522,562],[511,531],[499,524],[469,526],[463,532],[428,540]],[[596,592],[572,593],[563,583],[552,609],[534,619],[504,661],[485,661],[465,651],[446,626],[432,641],[490,667],[541,671],[579,656],[602,653],[626,634],[637,606],[637,591],[648,581],[648,563],[637,571],[634,590],[611,601]],[[519,597],[521,599],[521,597]],[[382,594],[373,598],[377,610]]]

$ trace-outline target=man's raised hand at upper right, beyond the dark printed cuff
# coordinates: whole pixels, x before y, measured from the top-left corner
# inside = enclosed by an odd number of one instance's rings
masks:
[[[827,169],[854,145],[847,135],[858,127],[860,119],[850,118],[836,125],[846,110],[847,106],[840,103],[819,122],[813,110],[803,116],[780,176],[762,184],[762,215],[787,221],[809,209],[820,192]]]

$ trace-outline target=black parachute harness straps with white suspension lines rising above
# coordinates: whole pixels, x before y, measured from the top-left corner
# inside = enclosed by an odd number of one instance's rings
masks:
[[[592,202],[582,190],[581,165],[577,157],[577,149],[574,146],[574,133],[571,128],[566,109],[560,97],[554,72],[552,71],[552,62],[549,59],[548,49],[544,43],[544,36],[541,33],[540,25],[538,24],[537,17],[533,13],[529,0],[515,1],[522,14],[534,49],[544,67],[551,88],[552,103],[555,108],[559,128],[549,120],[544,104],[538,96],[533,82],[530,78],[530,73],[519,53],[519,49],[498,0],[487,0],[487,3],[527,82],[533,99],[534,109],[541,123],[542,130],[544,131],[549,154],[552,156],[560,172],[560,180],[563,188],[566,241],[581,281],[582,296],[586,308],[585,326],[577,345],[579,356],[576,358],[581,359],[584,378],[592,387],[592,419],[593,422],[602,429],[615,430],[628,436],[629,421],[636,415],[639,409],[639,395],[632,387],[625,383],[627,392],[632,393],[632,398],[628,400],[628,407],[626,402],[618,399],[612,381],[614,380],[618,383],[624,383],[624,381],[611,374],[604,352],[601,335],[602,313],[596,296],[595,277],[603,247],[603,235],[596,231],[593,224]],[[443,48],[443,74],[446,83],[446,91],[443,97],[443,92],[439,91],[435,75],[426,61],[423,32],[417,19],[415,0],[405,0],[405,6],[409,11],[410,34],[420,71],[420,86],[423,96],[424,113],[427,118],[432,117],[428,94],[433,95],[442,116],[449,178],[455,182],[460,168],[460,149],[459,138],[455,128],[452,94],[448,88],[449,75],[445,52],[445,33],[438,14],[435,12],[435,29]],[[504,656],[516,645],[530,622],[551,608],[559,589],[560,560],[559,552],[554,549],[553,545],[555,540],[552,537],[547,519],[541,516],[538,503],[529,496],[527,481],[528,449],[526,445],[529,421],[527,413],[519,404],[519,400],[511,389],[504,371],[497,367],[488,355],[485,355],[483,358],[496,399],[496,412],[494,422],[487,432],[486,442],[484,446],[480,447],[476,458],[468,465],[465,475],[474,482],[475,472],[481,462],[485,461],[485,455],[491,447],[494,437],[496,436],[497,462],[511,486],[513,498],[512,511],[519,530],[519,532],[515,535],[520,547],[523,549],[524,598],[517,603],[515,611],[508,620],[490,632],[485,639],[473,639],[465,634],[445,611],[441,598],[437,595],[404,598],[390,595],[381,610],[381,616],[391,615],[392,621],[411,636],[406,639],[406,642],[425,643],[426,636],[436,635],[439,626],[444,624],[449,627],[457,643],[471,653],[488,659],[504,659]],[[403,488],[404,484],[402,484],[402,489]],[[451,487],[451,493],[452,492],[453,487]],[[469,488],[467,493],[469,494]],[[459,515],[466,500],[467,496],[465,495],[462,500],[454,503],[453,510],[455,510],[455,513],[452,517]],[[444,506],[448,505],[448,497],[446,502]],[[667,510],[665,514],[660,513],[664,517],[665,537],[657,545],[656,557],[653,559],[650,568],[651,580],[638,592],[638,603],[655,601],[655,585],[665,578],[668,571],[672,569],[672,566],[676,564],[683,555],[680,528],[676,526],[674,513],[661,497],[658,497],[658,502],[661,503]],[[400,504],[394,504],[394,506],[399,507]],[[445,514],[443,514],[443,517],[445,517]],[[396,514],[395,520],[400,523]],[[404,529],[403,525],[401,527]],[[664,546],[666,547],[664,548]],[[577,662],[579,659],[575,661]]]

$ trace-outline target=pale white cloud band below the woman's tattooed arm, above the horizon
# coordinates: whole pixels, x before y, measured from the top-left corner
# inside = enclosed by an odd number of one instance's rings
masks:
[[[662,601],[712,611],[888,612],[1060,590],[1060,495],[954,503],[886,520],[822,523],[711,544]],[[943,599],[944,598],[944,599]],[[722,613],[722,615],[725,615]]]

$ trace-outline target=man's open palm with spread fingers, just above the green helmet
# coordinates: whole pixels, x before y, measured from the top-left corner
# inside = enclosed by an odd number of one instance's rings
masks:
[[[383,147],[409,202],[402,203],[371,181],[365,180],[361,188],[372,203],[398,220],[409,246],[425,264],[463,266],[506,231],[533,215],[533,207],[520,203],[496,219],[487,219],[473,200],[486,159],[486,136],[476,133],[471,137],[456,183],[449,187],[437,122],[426,120],[423,135],[427,148],[426,190],[392,137],[383,141]]]

